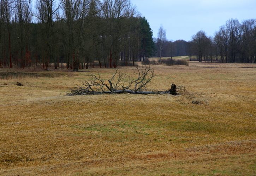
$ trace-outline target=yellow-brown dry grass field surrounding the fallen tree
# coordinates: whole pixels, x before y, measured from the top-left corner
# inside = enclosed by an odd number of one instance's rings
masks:
[[[256,175],[256,65],[152,68],[187,92],[65,96],[113,69],[0,79],[0,175]]]

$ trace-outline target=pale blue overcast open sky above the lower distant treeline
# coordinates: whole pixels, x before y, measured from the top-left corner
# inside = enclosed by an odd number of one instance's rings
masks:
[[[157,37],[160,25],[168,40],[191,40],[198,31],[214,36],[228,19],[256,18],[256,0],[131,0]]]

